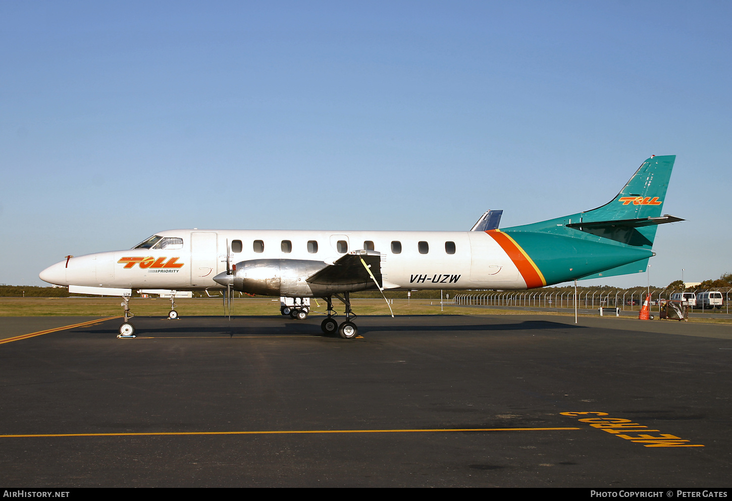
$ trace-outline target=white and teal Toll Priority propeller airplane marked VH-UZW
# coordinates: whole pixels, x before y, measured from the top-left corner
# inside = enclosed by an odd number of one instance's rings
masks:
[[[651,157],[613,200],[569,216],[498,230],[488,211],[470,231],[166,230],[132,249],[66,259],[40,273],[71,293],[119,295],[119,337],[135,336],[132,290],[225,290],[288,298],[324,298],[321,328],[350,339],[350,293],[360,290],[525,290],[572,279],[646,270],[676,157]],[[234,264],[232,264],[234,263]],[[334,320],[332,298],[346,305]],[[302,303],[301,303],[302,304]],[[307,306],[293,309],[307,317]]]

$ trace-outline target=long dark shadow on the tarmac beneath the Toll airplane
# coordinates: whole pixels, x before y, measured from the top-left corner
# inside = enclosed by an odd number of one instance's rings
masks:
[[[217,322],[221,322],[220,317],[215,318]],[[320,325],[315,323],[304,322],[286,322],[284,325],[266,325],[262,320],[281,320],[279,317],[238,317],[247,320],[258,320],[257,325],[138,325],[138,337],[154,336],[154,337],[220,337],[220,336],[310,336],[310,337],[338,337],[337,335],[326,335],[320,330]],[[362,317],[364,318],[364,317]],[[368,317],[373,320],[375,317]],[[376,317],[378,318],[378,317]],[[196,320],[204,320],[206,317],[195,317]],[[143,320],[143,319],[141,319]],[[154,322],[154,318],[148,317],[144,323]],[[227,322],[228,323],[228,322]],[[361,335],[369,332],[402,332],[405,334],[435,333],[435,332],[455,332],[455,331],[545,331],[545,330],[562,330],[567,329],[587,329],[582,325],[568,325],[566,323],[548,322],[545,320],[526,320],[520,323],[496,323],[496,324],[469,324],[469,325],[389,325],[383,323],[380,325],[359,324]],[[116,328],[84,330],[85,334],[117,334]]]

